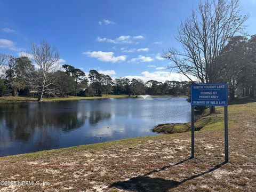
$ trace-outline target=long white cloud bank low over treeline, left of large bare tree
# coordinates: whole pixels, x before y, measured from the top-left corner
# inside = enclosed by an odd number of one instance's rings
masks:
[[[128,75],[125,78],[129,79],[142,79],[142,81],[147,82],[149,80],[155,80],[158,82],[165,82],[165,81],[188,81],[188,78],[184,75],[168,72],[168,71],[155,71],[150,73],[148,71],[143,71],[141,75]],[[194,77],[192,79],[195,79]]]

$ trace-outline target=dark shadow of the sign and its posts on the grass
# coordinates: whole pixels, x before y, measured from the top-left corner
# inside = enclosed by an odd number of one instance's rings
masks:
[[[129,190],[129,191],[165,192],[165,191],[168,191],[171,188],[178,187],[179,185],[181,185],[182,183],[185,183],[186,181],[201,177],[204,174],[207,174],[207,173],[210,173],[214,170],[217,170],[222,165],[225,164],[225,163],[218,164],[218,165],[212,167],[211,169],[209,169],[207,171],[204,171],[204,172],[199,173],[199,174],[192,175],[191,177],[183,179],[182,181],[166,180],[166,179],[163,179],[163,178],[150,178],[150,177],[148,177],[148,175],[150,175],[152,173],[160,172],[160,171],[163,171],[165,169],[175,167],[175,166],[177,166],[177,165],[179,165],[179,164],[181,164],[181,163],[183,163],[187,160],[188,159],[185,159],[185,160],[180,161],[180,162],[178,162],[174,165],[164,166],[161,169],[150,171],[150,172],[148,172],[144,175],[134,177],[134,178],[131,178],[131,179],[126,180],[126,181],[114,182],[109,187],[110,188],[111,187],[116,187],[118,189]]]

